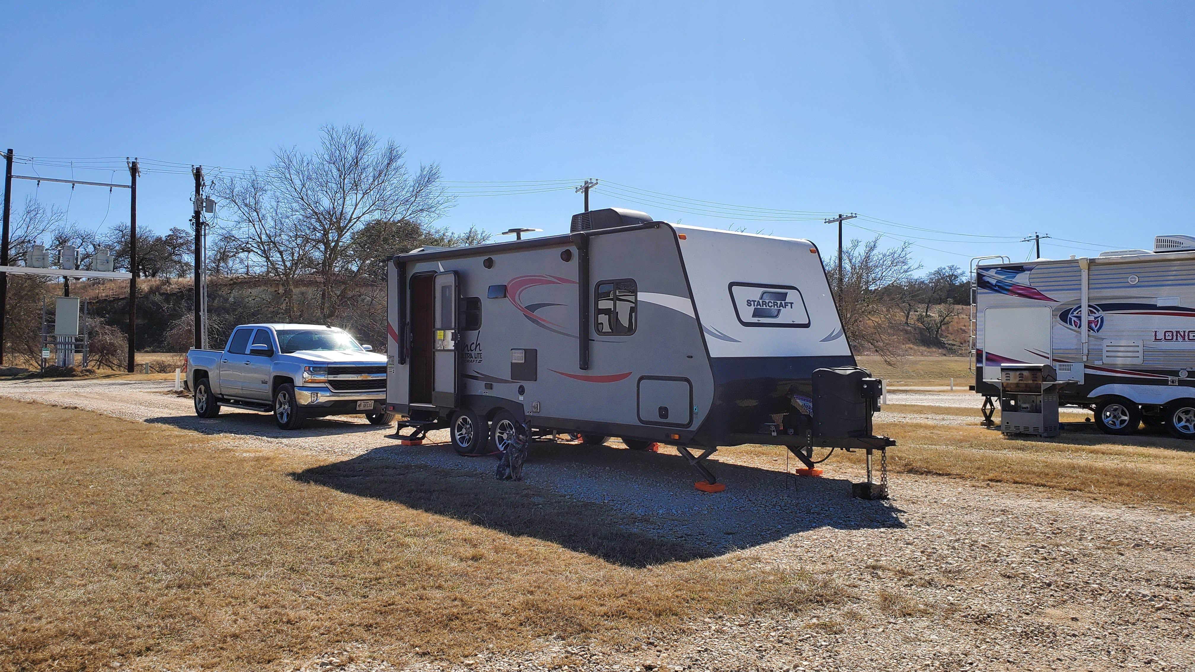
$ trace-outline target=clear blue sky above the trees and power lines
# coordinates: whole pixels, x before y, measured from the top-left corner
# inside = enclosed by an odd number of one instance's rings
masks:
[[[361,123],[448,181],[593,177],[592,207],[823,249],[820,215],[621,185],[857,212],[927,268],[1023,259],[1035,231],[1049,257],[1195,233],[1189,2],[247,5],[8,6],[0,145],[244,169]],[[139,224],[185,227],[190,190],[147,171]],[[120,190],[13,191],[81,226],[128,218]],[[562,232],[580,209],[571,189],[461,197],[442,224]]]

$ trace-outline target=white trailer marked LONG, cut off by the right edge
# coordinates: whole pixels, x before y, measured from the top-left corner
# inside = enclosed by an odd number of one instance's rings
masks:
[[[1145,422],[1195,438],[1195,238],[1159,236],[1153,252],[980,263],[974,320],[976,392],[999,395],[985,379],[1001,364],[1048,364],[1065,383],[1059,403],[1092,409],[1104,432]]]

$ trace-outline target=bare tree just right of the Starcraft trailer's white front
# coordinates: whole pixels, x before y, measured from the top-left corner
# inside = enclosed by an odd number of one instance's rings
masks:
[[[827,262],[831,287],[838,286],[838,259]],[[920,268],[914,264],[909,244],[881,249],[880,237],[860,243],[851,240],[842,249],[842,298],[838,312],[847,340],[868,346],[885,360],[896,355],[899,326],[884,289],[907,282]]]

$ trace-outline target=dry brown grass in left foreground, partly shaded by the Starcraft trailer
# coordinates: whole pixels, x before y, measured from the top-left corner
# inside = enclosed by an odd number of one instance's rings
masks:
[[[844,594],[523,483],[8,399],[0,427],[0,670],[451,659]]]

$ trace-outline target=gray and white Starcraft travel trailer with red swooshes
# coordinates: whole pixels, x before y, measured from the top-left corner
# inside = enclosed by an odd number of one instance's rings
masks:
[[[871,435],[866,372],[815,389],[815,369],[856,362],[808,240],[611,208],[570,234],[392,262],[386,404],[405,438],[448,427],[461,453],[504,451],[520,428],[666,442],[709,483],[718,446],[785,445],[813,468],[813,446],[891,445]]]

